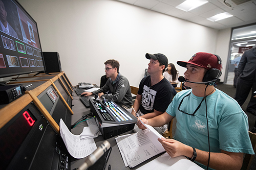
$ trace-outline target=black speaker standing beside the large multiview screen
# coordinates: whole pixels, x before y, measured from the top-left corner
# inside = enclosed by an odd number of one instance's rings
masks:
[[[58,52],[42,52],[45,60],[46,72],[61,72]]]

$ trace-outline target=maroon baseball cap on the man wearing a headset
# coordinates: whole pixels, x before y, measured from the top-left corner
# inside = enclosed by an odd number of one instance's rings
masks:
[[[217,68],[221,70],[222,64],[220,57],[210,53],[196,53],[188,61],[177,61],[177,64],[186,67],[187,63],[197,65],[199,67],[206,68]]]

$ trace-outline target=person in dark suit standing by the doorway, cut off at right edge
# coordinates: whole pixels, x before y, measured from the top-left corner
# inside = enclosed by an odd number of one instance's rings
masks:
[[[251,99],[247,105],[246,111],[256,116],[256,47],[244,52],[238,65],[237,91],[234,99],[240,106],[244,104],[251,92]]]

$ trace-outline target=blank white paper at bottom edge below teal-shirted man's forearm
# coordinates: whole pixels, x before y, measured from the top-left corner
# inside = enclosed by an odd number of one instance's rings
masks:
[[[200,166],[196,163],[191,162],[184,156],[178,156],[171,158],[167,153],[159,156],[158,158],[148,162],[147,164],[139,167],[137,170],[155,170],[155,169],[164,169],[164,170],[180,170],[180,169],[189,169],[189,170],[202,170]]]

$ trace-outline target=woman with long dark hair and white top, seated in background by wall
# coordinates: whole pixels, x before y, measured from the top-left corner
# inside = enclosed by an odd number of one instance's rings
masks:
[[[164,71],[163,76],[172,84],[174,87],[177,87],[179,83],[179,71],[176,70],[173,63],[169,63],[167,69]]]

